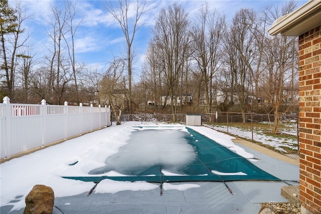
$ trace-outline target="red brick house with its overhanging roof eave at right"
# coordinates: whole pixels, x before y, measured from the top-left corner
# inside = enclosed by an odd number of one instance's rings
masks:
[[[299,37],[301,213],[321,213],[321,1],[277,19],[269,34]]]

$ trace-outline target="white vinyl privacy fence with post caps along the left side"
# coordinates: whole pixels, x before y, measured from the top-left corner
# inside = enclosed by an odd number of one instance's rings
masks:
[[[110,108],[0,103],[0,158],[110,126]]]

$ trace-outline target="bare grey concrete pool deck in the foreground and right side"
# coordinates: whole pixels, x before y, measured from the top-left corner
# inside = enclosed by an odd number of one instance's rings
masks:
[[[253,162],[261,169],[282,179],[280,181],[230,181],[226,182],[176,182],[172,184],[199,184],[198,188],[148,191],[121,191],[111,193],[87,192],[70,197],[55,198],[55,214],[60,213],[244,213],[257,214],[262,202],[288,202],[281,196],[281,187],[298,185],[298,161],[279,155],[251,142],[235,139],[235,142],[259,161]],[[98,184],[99,185],[99,184]],[[1,207],[1,213],[7,213]],[[23,209],[11,213],[23,213]]]

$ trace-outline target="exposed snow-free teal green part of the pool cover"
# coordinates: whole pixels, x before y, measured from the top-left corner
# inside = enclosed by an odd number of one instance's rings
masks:
[[[146,167],[134,176],[86,176],[63,177],[68,179],[100,182],[103,179],[116,181],[176,182],[176,181],[236,181],[273,180],[279,178],[263,171],[248,159],[216,143],[206,136],[186,127],[191,136],[189,144],[197,153],[196,159],[183,167],[183,175],[164,175],[162,165]],[[215,171],[212,171],[215,170]],[[224,173],[217,173],[224,172]]]

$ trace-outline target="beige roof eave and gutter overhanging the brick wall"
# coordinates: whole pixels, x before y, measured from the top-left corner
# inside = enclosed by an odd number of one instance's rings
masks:
[[[321,25],[321,1],[310,0],[293,13],[275,20],[268,30],[270,35],[300,36]]]

